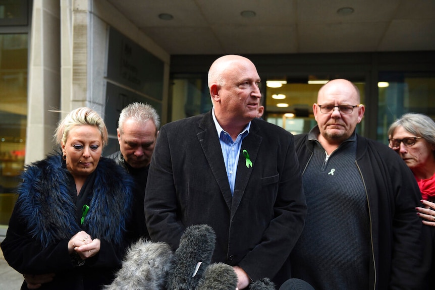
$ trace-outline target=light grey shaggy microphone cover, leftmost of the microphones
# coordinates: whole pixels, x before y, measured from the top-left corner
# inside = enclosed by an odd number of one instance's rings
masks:
[[[140,239],[128,249],[115,280],[103,289],[164,290],[174,261],[174,253],[167,243],[152,243]]]

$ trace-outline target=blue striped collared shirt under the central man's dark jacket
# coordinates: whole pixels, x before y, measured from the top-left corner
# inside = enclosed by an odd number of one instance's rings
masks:
[[[221,143],[222,155],[224,156],[225,168],[227,169],[228,182],[230,183],[231,194],[234,193],[234,185],[236,183],[237,164],[239,162],[240,148],[242,147],[242,140],[248,135],[251,122],[246,125],[245,129],[237,136],[236,141],[233,142],[231,135],[228,134],[216,120],[214,115],[214,108],[211,110],[214,125],[217,130],[217,137]]]

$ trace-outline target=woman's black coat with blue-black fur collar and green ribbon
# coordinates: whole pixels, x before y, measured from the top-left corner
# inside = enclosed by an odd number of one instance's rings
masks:
[[[62,156],[49,156],[26,167],[17,189],[2,250],[20,273],[55,273],[40,289],[99,289],[110,283],[121,266],[130,219],[133,182],[113,160],[101,157],[89,185],[89,212],[80,225],[69,192],[71,175]],[[80,230],[101,241],[100,252],[78,266],[68,253],[68,241]],[[22,289],[27,289],[23,283]]]

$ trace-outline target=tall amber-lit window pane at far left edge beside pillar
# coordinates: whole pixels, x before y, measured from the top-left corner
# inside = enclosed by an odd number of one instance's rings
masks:
[[[27,34],[0,34],[0,224],[8,224],[24,167]]]

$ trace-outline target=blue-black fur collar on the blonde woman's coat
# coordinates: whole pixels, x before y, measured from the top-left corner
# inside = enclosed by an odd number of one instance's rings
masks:
[[[75,204],[68,193],[68,171],[62,156],[49,156],[26,166],[18,187],[16,209],[30,235],[42,245],[69,240],[81,230],[75,220]],[[113,160],[101,157],[95,169],[93,196],[84,226],[93,239],[116,245],[124,240],[132,209],[133,181]]]

